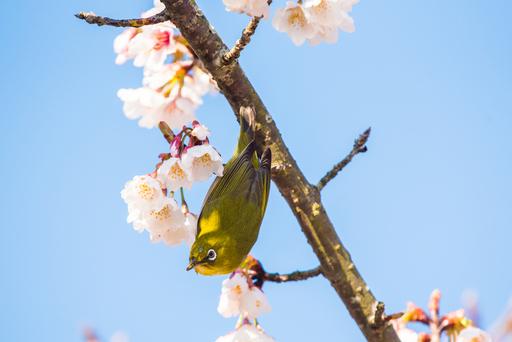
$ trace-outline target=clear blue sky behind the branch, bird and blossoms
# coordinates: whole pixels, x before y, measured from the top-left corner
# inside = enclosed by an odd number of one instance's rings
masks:
[[[197,0],[228,46],[249,17]],[[274,0],[272,13],[284,7]],[[122,29],[73,14],[132,18],[151,0],[3,1],[0,38],[0,336],[108,341],[214,341],[236,318],[217,313],[224,276],[184,270],[185,245],[150,243],[126,223],[125,181],[167,151],[156,129],[122,113],[120,88],[142,70],[114,64]],[[293,157],[317,182],[369,126],[369,151],[322,192],[328,215],[387,313],[407,301],[441,312],[480,293],[483,327],[512,295],[512,3],[361,0],[356,31],[295,47],[262,22],[240,62]],[[222,95],[197,111],[223,155],[238,124]],[[199,210],[208,183],[186,198]],[[252,254],[269,272],[318,261],[275,186]],[[261,316],[278,342],[363,341],[322,277],[266,284]]]

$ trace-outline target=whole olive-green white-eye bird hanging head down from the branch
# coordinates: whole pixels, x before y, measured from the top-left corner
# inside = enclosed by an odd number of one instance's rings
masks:
[[[270,190],[272,155],[255,153],[254,113],[240,110],[240,136],[222,177],[212,183],[197,223],[187,271],[218,275],[234,272],[258,239]]]

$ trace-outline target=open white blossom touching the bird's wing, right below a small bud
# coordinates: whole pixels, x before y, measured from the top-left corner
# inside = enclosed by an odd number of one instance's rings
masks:
[[[222,177],[221,155],[210,144],[190,147],[182,157],[188,180],[206,182],[212,174]]]

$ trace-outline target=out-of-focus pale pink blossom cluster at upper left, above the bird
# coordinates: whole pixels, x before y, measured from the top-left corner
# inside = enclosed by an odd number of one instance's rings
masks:
[[[143,18],[164,10],[160,0],[154,8],[142,13]],[[138,119],[139,126],[151,129],[160,121],[171,128],[180,128],[194,121],[201,97],[215,93],[214,81],[204,72],[198,58],[170,22],[124,30],[114,40],[116,64],[133,58],[136,67],[144,68],[143,87],[120,89],[123,112],[129,119]],[[170,57],[172,63],[166,63]]]

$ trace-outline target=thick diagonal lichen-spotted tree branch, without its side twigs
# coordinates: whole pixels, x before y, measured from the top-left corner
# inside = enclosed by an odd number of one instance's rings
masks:
[[[224,65],[224,56],[229,49],[193,0],[162,0],[162,3],[165,4],[167,16],[217,81],[234,114],[239,115],[241,106],[254,107],[259,153],[266,147],[272,150],[272,180],[316,253],[322,274],[347,306],[362,333],[371,342],[399,342],[389,323],[382,319],[375,322],[375,314],[383,311],[383,303],[379,304],[355,268],[327,216],[318,187],[310,184],[298,168],[272,116],[251,86],[238,60]]]

